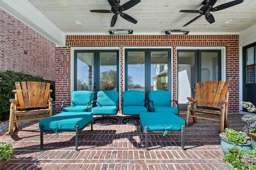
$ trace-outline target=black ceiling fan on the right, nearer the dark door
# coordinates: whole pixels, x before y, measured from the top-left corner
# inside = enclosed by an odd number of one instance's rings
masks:
[[[215,12],[215,11],[219,11],[219,10],[223,10],[226,8],[229,8],[231,6],[235,6],[237,4],[242,3],[244,0],[234,0],[231,2],[227,2],[225,4],[221,4],[219,6],[213,7],[214,4],[217,2],[217,0],[204,0],[202,2],[202,4],[204,6],[202,6],[202,8],[200,8],[200,10],[180,10],[180,12],[187,12],[187,13],[199,13],[200,15],[197,16],[196,18],[190,20],[188,23],[186,23],[185,25],[183,25],[183,27],[187,26],[188,24],[194,22],[195,20],[197,20],[198,18],[200,18],[202,15],[205,16],[205,19],[209,22],[209,23],[214,23],[214,17],[210,12]]]

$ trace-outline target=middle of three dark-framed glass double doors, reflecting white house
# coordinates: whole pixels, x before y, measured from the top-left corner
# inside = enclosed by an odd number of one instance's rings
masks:
[[[170,49],[126,49],[125,90],[169,90]]]

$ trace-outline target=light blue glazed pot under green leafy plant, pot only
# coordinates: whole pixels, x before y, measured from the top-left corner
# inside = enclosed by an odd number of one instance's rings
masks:
[[[252,150],[252,143],[234,144],[226,139],[220,138],[220,146],[224,154],[228,153],[228,148],[237,147],[239,150]]]

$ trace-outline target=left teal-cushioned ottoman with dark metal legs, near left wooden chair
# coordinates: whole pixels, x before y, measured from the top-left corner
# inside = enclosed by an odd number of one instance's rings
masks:
[[[40,148],[43,149],[44,131],[54,131],[58,135],[58,131],[75,131],[75,150],[78,149],[78,133],[91,123],[92,131],[92,112],[62,112],[57,115],[47,117],[39,121],[40,128]]]

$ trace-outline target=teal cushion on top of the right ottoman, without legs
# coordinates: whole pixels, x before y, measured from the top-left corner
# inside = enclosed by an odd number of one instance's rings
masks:
[[[148,131],[181,130],[185,126],[185,120],[168,112],[145,112],[140,113],[142,128],[148,126]]]

